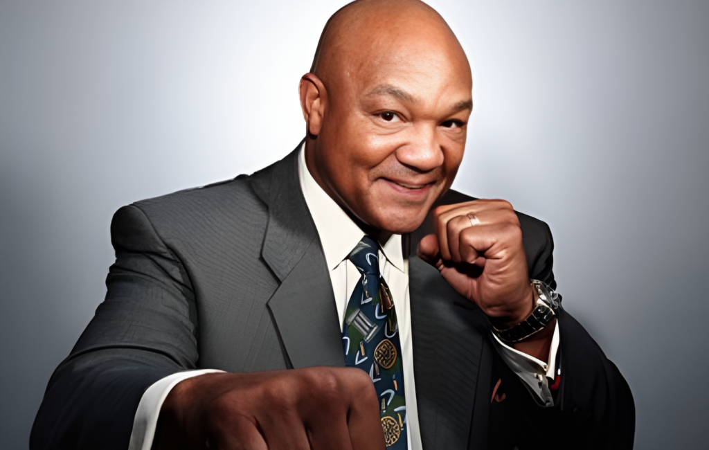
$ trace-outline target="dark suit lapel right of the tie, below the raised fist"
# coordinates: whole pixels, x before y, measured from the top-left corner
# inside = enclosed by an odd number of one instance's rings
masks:
[[[485,319],[418,257],[409,258],[409,289],[423,448],[468,449],[476,390],[487,379],[479,378],[481,366],[489,365],[481,359]],[[484,438],[473,437],[476,442]]]

